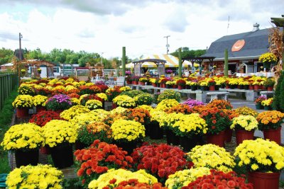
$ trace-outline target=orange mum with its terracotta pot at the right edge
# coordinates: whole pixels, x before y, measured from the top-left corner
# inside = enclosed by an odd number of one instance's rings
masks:
[[[256,117],[258,128],[263,131],[265,139],[271,139],[276,143],[281,143],[281,123],[283,123],[284,113],[276,110],[259,113]]]

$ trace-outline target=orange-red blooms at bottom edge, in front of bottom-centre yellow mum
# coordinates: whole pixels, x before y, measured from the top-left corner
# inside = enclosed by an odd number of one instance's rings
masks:
[[[143,189],[167,189],[166,187],[162,186],[162,183],[154,183],[153,185],[150,185],[148,183],[139,183],[137,179],[129,179],[129,181],[122,181],[115,187],[113,184],[116,183],[116,179],[112,179],[109,181],[109,186],[105,186],[102,189],[138,189],[138,188],[143,188]]]

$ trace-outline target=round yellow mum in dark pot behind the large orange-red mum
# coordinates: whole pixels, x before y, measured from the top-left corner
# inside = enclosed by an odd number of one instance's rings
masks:
[[[111,124],[111,137],[115,144],[129,154],[136,148],[137,143],[145,137],[145,127],[132,120],[116,120]]]

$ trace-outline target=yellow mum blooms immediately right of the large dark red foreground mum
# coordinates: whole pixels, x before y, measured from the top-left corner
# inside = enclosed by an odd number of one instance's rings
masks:
[[[208,167],[218,171],[229,172],[234,166],[234,156],[222,147],[214,144],[196,146],[189,153],[195,167]]]

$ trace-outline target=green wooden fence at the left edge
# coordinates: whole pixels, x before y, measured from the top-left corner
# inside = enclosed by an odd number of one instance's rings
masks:
[[[4,106],[5,99],[17,86],[17,82],[17,75],[15,73],[0,74],[0,110],[2,110]]]

